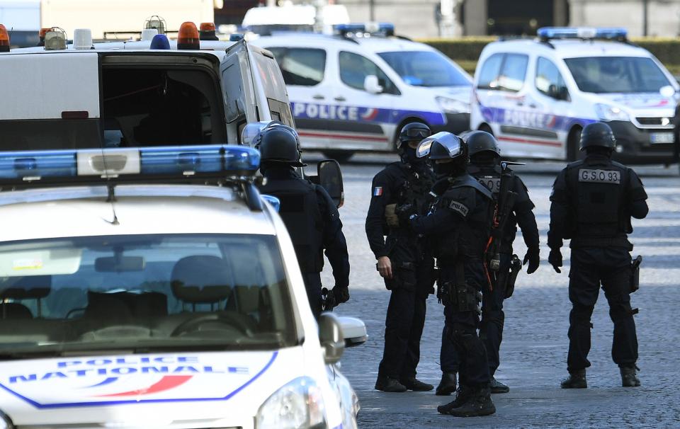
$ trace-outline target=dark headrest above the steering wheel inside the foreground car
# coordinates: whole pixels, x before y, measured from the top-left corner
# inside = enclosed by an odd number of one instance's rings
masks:
[[[234,280],[227,261],[217,256],[187,256],[172,269],[172,292],[193,304],[212,304],[227,299]]]

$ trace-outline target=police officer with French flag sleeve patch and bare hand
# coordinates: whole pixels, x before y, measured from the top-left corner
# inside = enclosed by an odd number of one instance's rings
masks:
[[[416,147],[430,134],[421,122],[405,125],[397,141],[401,161],[388,164],[373,178],[366,236],[378,260],[378,272],[392,292],[385,318],[385,350],[375,382],[375,389],[382,391],[433,389],[416,379],[425,300],[433,285],[433,258],[395,214],[395,207],[402,204],[424,210],[434,177],[426,159],[416,156]]]

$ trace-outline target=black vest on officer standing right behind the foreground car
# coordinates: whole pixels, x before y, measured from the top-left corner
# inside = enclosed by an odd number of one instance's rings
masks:
[[[260,192],[280,200],[278,214],[293,241],[302,273],[323,270],[323,219],[314,185],[301,178],[273,179]]]

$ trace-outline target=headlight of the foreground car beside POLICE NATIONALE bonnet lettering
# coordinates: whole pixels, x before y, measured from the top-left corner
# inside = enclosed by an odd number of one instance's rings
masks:
[[[257,429],[327,428],[321,389],[310,377],[300,377],[278,389],[260,406]]]

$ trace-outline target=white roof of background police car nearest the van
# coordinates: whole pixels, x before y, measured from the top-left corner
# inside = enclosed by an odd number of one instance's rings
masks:
[[[323,35],[314,33],[276,33],[271,36],[263,36],[252,40],[253,45],[265,47],[336,47],[351,46],[356,49],[357,45],[363,47],[368,52],[392,52],[399,50],[408,51],[432,51],[433,48],[424,43],[413,42],[402,38],[342,38],[334,35]]]

